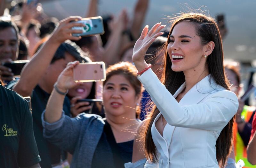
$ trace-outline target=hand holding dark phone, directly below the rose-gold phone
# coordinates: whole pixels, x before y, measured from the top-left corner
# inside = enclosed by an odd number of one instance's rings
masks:
[[[82,113],[85,110],[89,110],[92,108],[92,106],[90,106],[90,103],[88,101],[76,102],[77,100],[80,100],[80,99],[82,99],[81,96],[75,96],[70,101],[71,103],[70,112],[73,117]]]

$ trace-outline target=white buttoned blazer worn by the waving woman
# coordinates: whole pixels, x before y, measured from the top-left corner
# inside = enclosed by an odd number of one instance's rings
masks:
[[[144,168],[219,167],[215,144],[221,130],[236,114],[236,94],[210,82],[208,75],[178,103],[175,98],[186,87],[186,82],[172,96],[151,69],[138,79],[160,110],[151,127],[158,163],[148,160]],[[167,121],[163,136],[155,126],[161,114]]]

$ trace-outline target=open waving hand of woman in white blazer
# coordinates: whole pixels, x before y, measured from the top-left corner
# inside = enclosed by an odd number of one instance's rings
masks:
[[[148,47],[153,43],[153,41],[163,34],[160,32],[165,25],[161,25],[160,23],[155,24],[149,31],[148,25],[144,27],[141,32],[140,38],[136,41],[135,46],[133,48],[132,61],[134,65],[141,71],[145,68],[146,62],[144,60],[144,56],[148,50]]]

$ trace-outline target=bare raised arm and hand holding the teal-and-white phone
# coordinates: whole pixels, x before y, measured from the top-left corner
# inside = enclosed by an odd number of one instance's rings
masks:
[[[30,62],[22,69],[20,81],[13,88],[14,91],[22,96],[30,96],[32,90],[50,65],[60,44],[67,39],[79,40],[81,38],[72,36],[72,33],[81,33],[82,31],[71,29],[74,26],[84,26],[82,23],[72,22],[80,19],[81,17],[68,17],[60,21],[48,41],[43,44]]]

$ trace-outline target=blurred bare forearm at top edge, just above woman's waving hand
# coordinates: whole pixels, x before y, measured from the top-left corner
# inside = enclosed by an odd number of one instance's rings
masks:
[[[133,18],[131,24],[131,33],[134,38],[138,38],[140,28],[143,24],[145,15],[148,10],[149,0],[138,0],[133,11]]]

